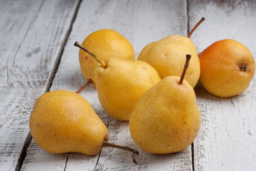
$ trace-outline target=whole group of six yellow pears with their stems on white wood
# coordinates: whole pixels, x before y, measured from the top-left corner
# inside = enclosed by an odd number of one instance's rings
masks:
[[[211,94],[232,97],[249,86],[255,73],[250,50],[234,40],[221,40],[197,53],[190,36],[171,35],[146,45],[135,60],[132,44],[114,30],[90,34],[79,61],[88,82],[76,92],[54,90],[38,98],[29,128],[35,142],[52,153],[96,155],[103,147],[139,151],[108,142],[109,133],[79,92],[92,84],[102,107],[113,118],[129,121],[138,146],[149,153],[186,149],[196,138],[201,115],[194,87],[198,81]]]

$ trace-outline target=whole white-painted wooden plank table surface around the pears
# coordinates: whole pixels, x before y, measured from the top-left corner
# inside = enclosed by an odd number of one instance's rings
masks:
[[[256,171],[256,80],[233,98],[195,87],[202,125],[186,150],[152,155],[134,143],[128,122],[110,117],[96,90],[81,95],[107,125],[110,142],[140,151],[140,164],[123,150],[99,155],[52,154],[29,134],[36,99],[54,89],[77,90],[83,79],[75,41],[101,28],[130,40],[136,55],[171,34],[184,35],[205,17],[191,39],[198,52],[221,39],[244,43],[256,57],[255,0],[0,0],[0,170],[1,171]]]

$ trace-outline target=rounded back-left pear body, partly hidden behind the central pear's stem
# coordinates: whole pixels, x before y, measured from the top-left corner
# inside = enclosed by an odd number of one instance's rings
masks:
[[[135,53],[132,44],[118,32],[111,29],[101,29],[90,34],[82,46],[93,52],[104,61],[109,57],[134,59]],[[92,79],[94,84],[94,69],[98,62],[91,55],[79,50],[79,62],[85,79]]]

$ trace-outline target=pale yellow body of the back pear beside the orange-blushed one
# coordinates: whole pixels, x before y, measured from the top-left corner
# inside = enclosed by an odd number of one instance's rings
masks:
[[[181,76],[186,54],[191,55],[185,79],[194,87],[200,76],[200,62],[194,43],[187,37],[172,35],[146,45],[138,60],[152,65],[163,79],[166,76]]]

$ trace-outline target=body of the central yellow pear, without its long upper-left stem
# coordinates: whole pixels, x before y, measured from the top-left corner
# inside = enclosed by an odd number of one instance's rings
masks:
[[[158,72],[143,61],[108,58],[95,68],[95,83],[102,107],[114,118],[128,121],[140,96],[161,81]]]

